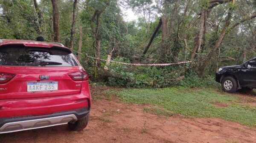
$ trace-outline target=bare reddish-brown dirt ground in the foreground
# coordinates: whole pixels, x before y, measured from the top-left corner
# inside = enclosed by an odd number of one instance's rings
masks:
[[[98,87],[92,90],[100,94]],[[217,118],[153,115],[144,112],[146,106],[97,99],[81,132],[55,126],[0,135],[0,143],[256,143],[256,128]]]

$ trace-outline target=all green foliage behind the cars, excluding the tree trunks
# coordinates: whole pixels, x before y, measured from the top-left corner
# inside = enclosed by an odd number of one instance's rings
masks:
[[[212,4],[212,3],[211,3]],[[216,3],[215,3],[216,4]],[[79,26],[82,26],[82,52],[95,56],[96,37],[93,29],[97,22],[92,22],[95,12],[102,12],[99,17],[99,39],[101,41],[100,58],[106,59],[111,52],[112,59],[132,63],[163,63],[188,61],[198,34],[199,18],[202,8],[208,8],[209,0],[82,0],[79,1],[74,53],[77,55],[79,42]],[[52,3],[50,0],[38,1],[42,12],[42,35],[46,41],[52,41]],[[121,8],[122,7],[122,8]],[[231,25],[256,13],[255,0],[236,0],[231,3],[219,3],[207,14],[207,31],[203,37],[201,51],[194,61],[202,62],[211,52],[225,25],[227,11],[233,7]],[[58,0],[60,14],[61,43],[68,45],[73,17],[73,0]],[[132,8],[138,20],[127,21],[123,18],[122,9]],[[185,13],[186,12],[186,13]],[[157,32],[148,53],[142,52],[157,27],[160,17],[166,16],[168,23],[167,40],[162,41],[162,30]],[[34,40],[38,36],[35,11],[32,0],[0,0],[0,39]],[[207,75],[201,79],[195,74],[196,68],[185,71],[182,66],[171,67],[134,67],[111,64],[111,73],[122,78],[110,78],[108,84],[127,87],[205,87],[215,85],[214,73],[221,66],[241,64],[255,56],[256,23],[249,20],[241,23],[224,38],[219,51],[212,53],[213,57],[206,66]],[[186,41],[186,42],[185,42]],[[166,45],[163,46],[163,45]],[[166,50],[164,50],[166,48]],[[218,53],[219,52],[219,53]],[[143,57],[143,58],[141,58]],[[95,61],[82,55],[81,63],[90,75],[96,75]],[[104,63],[101,63],[102,67]],[[189,65],[185,65],[189,67]],[[195,66],[197,67],[197,66]],[[189,72],[188,72],[189,71]],[[194,72],[195,71],[195,72]],[[172,81],[185,75],[183,81]],[[93,79],[99,80],[99,79]]]

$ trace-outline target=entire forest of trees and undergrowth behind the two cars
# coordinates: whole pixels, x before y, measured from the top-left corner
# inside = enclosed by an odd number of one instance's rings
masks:
[[[256,55],[255,18],[256,0],[0,0],[0,39],[60,42],[93,82],[200,87]]]

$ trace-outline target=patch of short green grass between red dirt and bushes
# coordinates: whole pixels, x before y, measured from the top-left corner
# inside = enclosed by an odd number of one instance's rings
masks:
[[[240,105],[240,99],[235,95],[217,92],[212,88],[124,89],[116,91],[116,95],[121,101],[151,104],[185,116],[222,118],[256,126],[256,107]],[[217,102],[228,106],[214,105]]]

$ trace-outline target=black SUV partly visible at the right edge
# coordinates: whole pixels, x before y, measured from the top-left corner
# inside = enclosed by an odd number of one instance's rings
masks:
[[[253,90],[256,88],[256,58],[242,65],[221,67],[216,73],[215,80],[221,83],[222,90],[225,92]]]

